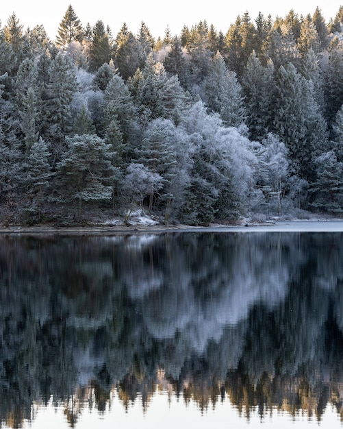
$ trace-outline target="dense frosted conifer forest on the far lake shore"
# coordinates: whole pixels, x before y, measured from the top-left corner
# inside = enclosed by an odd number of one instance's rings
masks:
[[[116,35],[0,23],[0,223],[343,212],[343,6]]]

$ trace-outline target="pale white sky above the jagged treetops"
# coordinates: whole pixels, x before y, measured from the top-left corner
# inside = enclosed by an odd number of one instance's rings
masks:
[[[299,16],[313,14],[318,5],[325,20],[329,22],[330,18],[335,17],[343,0],[5,0],[1,2],[1,24],[5,25],[14,12],[25,29],[42,24],[49,37],[55,40],[58,25],[69,4],[84,26],[88,22],[94,25],[101,20],[110,26],[113,36],[116,36],[123,23],[127,23],[129,30],[136,34],[140,23],[144,21],[153,37],[157,38],[164,36],[167,25],[173,35],[179,35],[183,25],[192,27],[201,20],[206,20],[208,25],[213,24],[225,34],[229,25],[246,10],[252,20],[255,20],[258,12],[262,12],[264,16],[270,14],[275,19],[275,16],[285,16],[291,9]]]

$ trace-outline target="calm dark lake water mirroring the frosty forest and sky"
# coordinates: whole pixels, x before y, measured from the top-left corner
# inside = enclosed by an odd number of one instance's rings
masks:
[[[0,236],[0,340],[1,428],[342,428],[343,233]]]

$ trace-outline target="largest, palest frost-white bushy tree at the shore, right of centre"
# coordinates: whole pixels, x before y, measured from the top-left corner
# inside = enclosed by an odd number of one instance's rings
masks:
[[[223,127],[218,115],[207,114],[201,101],[181,123],[189,134],[192,167],[181,219],[209,223],[236,217],[249,205],[255,156],[249,140],[236,128]]]

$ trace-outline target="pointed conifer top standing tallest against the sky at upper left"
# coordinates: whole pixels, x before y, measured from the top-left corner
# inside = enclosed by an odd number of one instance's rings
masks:
[[[84,38],[84,29],[80,20],[77,18],[72,5],[68,5],[66,13],[58,27],[58,36],[56,37],[56,45],[60,49],[66,50],[68,45],[76,40],[82,42]]]

